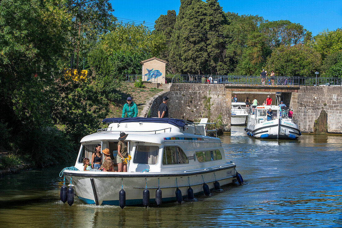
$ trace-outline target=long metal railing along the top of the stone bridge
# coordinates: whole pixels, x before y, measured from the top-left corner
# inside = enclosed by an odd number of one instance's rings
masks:
[[[204,79],[202,80],[202,78]],[[262,84],[260,76],[246,75],[182,75],[176,74],[172,78],[172,83],[206,83],[206,84]],[[271,77],[267,76],[264,85],[325,85],[341,86],[342,78],[324,77],[284,77],[275,76],[272,82]]]

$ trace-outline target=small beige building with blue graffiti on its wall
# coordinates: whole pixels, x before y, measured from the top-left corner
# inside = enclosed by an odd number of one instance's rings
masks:
[[[143,65],[143,81],[165,84],[165,68],[168,62],[153,57],[140,63]]]

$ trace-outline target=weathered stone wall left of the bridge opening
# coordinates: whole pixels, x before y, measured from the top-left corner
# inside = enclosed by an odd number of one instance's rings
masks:
[[[224,85],[215,84],[172,84],[170,92],[163,93],[153,102],[150,116],[158,117],[158,106],[162,97],[167,101],[170,118],[188,119],[199,122],[200,118],[222,123],[223,130],[230,131],[231,91],[225,91]]]

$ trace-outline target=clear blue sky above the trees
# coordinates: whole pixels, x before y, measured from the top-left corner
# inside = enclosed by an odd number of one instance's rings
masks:
[[[181,4],[179,0],[110,2],[114,9],[114,16],[150,23],[154,23],[168,10],[175,10],[178,14]],[[224,12],[259,15],[269,21],[289,20],[293,23],[300,23],[311,31],[313,36],[324,29],[336,30],[342,27],[342,0],[219,0],[219,3]]]

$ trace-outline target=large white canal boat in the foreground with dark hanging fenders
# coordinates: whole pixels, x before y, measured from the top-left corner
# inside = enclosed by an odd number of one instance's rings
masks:
[[[148,203],[155,203],[156,199],[163,203],[180,202],[188,197],[189,187],[194,195],[208,194],[203,183],[213,190],[218,187],[215,181],[221,187],[243,181],[235,163],[226,161],[221,140],[206,136],[206,124],[140,117],[109,118],[104,122],[110,123],[108,128],[82,138],[75,164],[79,170],[63,171],[75,195],[87,204],[119,205],[121,188],[126,193],[126,205],[145,205],[144,189],[149,190]],[[108,148],[117,153],[121,132],[128,134],[125,142],[132,157],[128,172],[83,171],[82,159],[91,159],[97,143],[102,150]],[[181,194],[176,198],[177,188]],[[159,195],[156,197],[157,189],[162,192],[160,199]]]

